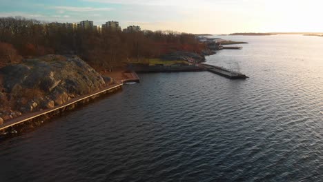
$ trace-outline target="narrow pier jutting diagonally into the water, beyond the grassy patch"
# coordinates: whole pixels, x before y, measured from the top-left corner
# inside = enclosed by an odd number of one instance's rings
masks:
[[[228,70],[226,68],[222,68],[216,65],[208,65],[204,63],[200,63],[199,65],[204,66],[204,68],[206,68],[208,72],[213,72],[215,74],[218,74],[222,77],[226,77],[228,79],[247,79],[248,78],[245,74],[242,74],[241,72]]]

